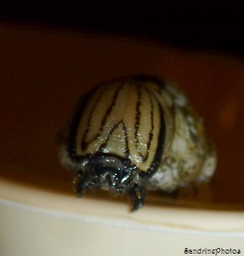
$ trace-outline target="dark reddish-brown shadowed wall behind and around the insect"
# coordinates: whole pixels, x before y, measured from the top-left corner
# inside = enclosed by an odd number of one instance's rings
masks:
[[[73,174],[58,163],[58,130],[92,86],[138,73],[170,78],[186,91],[218,150],[213,202],[242,205],[242,61],[78,30],[0,26],[0,176],[71,194]]]

